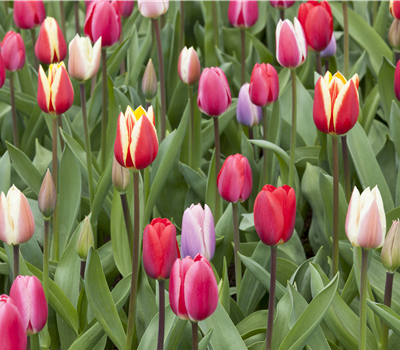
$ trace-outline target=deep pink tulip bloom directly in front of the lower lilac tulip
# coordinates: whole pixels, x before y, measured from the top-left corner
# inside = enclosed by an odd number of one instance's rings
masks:
[[[183,320],[199,322],[218,306],[218,285],[213,269],[201,254],[176,259],[169,281],[169,304]]]

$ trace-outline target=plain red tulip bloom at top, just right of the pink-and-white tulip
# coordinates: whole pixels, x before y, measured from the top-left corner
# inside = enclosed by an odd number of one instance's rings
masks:
[[[309,49],[321,52],[332,38],[333,17],[327,1],[308,0],[299,7],[299,21],[306,34]]]

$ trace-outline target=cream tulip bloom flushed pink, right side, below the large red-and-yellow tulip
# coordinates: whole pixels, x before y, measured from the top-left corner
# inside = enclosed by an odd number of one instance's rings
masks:
[[[378,186],[368,188],[360,196],[354,187],[346,216],[346,235],[355,247],[382,247],[386,234],[386,216]]]

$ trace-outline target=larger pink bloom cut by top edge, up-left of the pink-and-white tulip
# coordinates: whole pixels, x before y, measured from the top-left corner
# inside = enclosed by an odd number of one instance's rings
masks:
[[[230,0],[229,22],[236,28],[249,28],[258,20],[257,0]]]

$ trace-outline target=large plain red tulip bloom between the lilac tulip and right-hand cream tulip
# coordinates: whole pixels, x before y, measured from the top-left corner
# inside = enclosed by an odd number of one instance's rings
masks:
[[[284,185],[265,185],[254,202],[254,225],[258,237],[269,246],[287,242],[296,221],[296,194]]]

